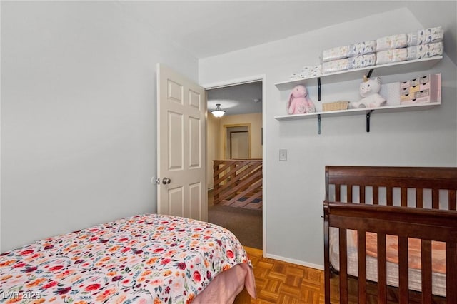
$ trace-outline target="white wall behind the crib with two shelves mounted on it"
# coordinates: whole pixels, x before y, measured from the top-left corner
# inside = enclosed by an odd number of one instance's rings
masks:
[[[374,112],[370,133],[366,133],[363,115],[324,117],[321,135],[317,134],[314,119],[279,122],[273,118],[286,115],[288,96],[288,92],[278,91],[274,83],[286,81],[302,66],[318,64],[323,49],[421,28],[410,11],[399,9],[199,61],[200,83],[266,74],[263,160],[266,166],[264,250],[268,256],[322,267],[321,216],[326,165],[457,165],[457,69],[447,56],[425,73],[442,73],[443,104],[428,111]],[[422,74],[381,76],[381,79],[389,83]],[[360,82],[323,83],[323,101],[360,98]],[[308,89],[317,104],[315,86]],[[288,161],[278,161],[280,148],[288,149]]]

